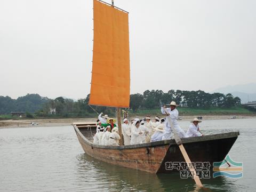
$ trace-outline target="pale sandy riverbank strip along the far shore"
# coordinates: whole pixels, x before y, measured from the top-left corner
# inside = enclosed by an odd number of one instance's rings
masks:
[[[195,118],[195,116],[181,116],[182,121],[190,121]],[[138,117],[144,118],[144,117]],[[236,118],[256,118],[256,116],[245,116],[245,115],[237,115]],[[230,115],[205,115],[203,116],[204,120],[214,120],[214,119],[230,119]],[[36,122],[39,127],[46,126],[68,126],[73,122],[96,122],[97,118],[65,118],[65,119],[26,119],[26,120],[5,120],[0,121],[0,129],[1,128],[17,128],[17,127],[30,127],[31,122]]]

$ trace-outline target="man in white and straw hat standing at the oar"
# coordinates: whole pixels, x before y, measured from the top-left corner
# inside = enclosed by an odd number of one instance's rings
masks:
[[[166,108],[165,106],[161,107],[161,112],[162,114],[165,114],[167,116],[171,117],[171,125],[169,124],[168,121],[166,121],[166,126],[165,126],[165,131],[164,131],[164,135],[163,135],[163,140],[166,139],[171,139],[171,134],[172,134],[172,128],[175,129],[179,135],[180,138],[186,138],[188,137],[187,134],[185,133],[185,131],[183,131],[178,122],[177,122],[177,117],[179,116],[179,111],[176,109],[178,105],[176,105],[176,103],[174,101],[172,101],[170,103],[170,108]],[[167,111],[167,114],[165,112],[165,110]]]

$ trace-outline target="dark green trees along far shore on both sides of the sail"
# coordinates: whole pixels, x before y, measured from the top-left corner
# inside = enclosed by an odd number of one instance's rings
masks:
[[[88,117],[95,116],[95,111],[88,105],[90,94],[85,99],[65,99],[58,97],[49,99],[39,94],[27,94],[17,100],[0,96],[0,114],[10,114],[11,111],[23,111],[33,113],[36,116],[49,117]],[[175,101],[180,107],[202,108],[223,107],[230,108],[241,105],[241,99],[232,94],[206,93],[204,91],[170,90],[146,90],[143,94],[130,95],[130,109],[155,109],[163,104]],[[109,115],[115,115],[115,109],[110,107],[93,106],[96,111],[103,111]],[[51,111],[54,109],[54,112]]]

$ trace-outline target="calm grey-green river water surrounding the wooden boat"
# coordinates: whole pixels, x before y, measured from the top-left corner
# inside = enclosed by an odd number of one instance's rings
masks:
[[[239,130],[229,155],[243,162],[243,178],[203,179],[204,189],[179,173],[156,175],[93,159],[72,126],[0,129],[0,191],[256,191],[255,128],[255,118],[201,123],[205,134]]]

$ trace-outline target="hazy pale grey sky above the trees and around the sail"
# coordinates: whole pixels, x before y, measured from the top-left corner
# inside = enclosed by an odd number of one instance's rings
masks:
[[[256,82],[256,1],[115,5],[130,12],[131,93]],[[85,98],[92,7],[92,0],[0,0],[0,95]]]

